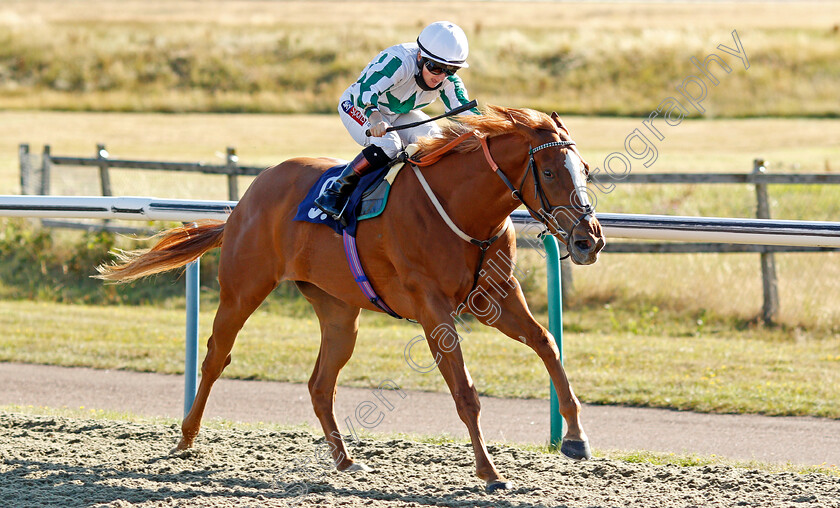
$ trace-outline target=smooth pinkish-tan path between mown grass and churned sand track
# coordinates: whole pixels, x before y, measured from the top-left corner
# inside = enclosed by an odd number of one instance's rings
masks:
[[[449,434],[466,438],[452,397],[405,391],[382,408],[376,433]],[[119,370],[0,363],[0,405],[106,409],[144,416],[180,418],[184,378]],[[336,415],[341,431],[355,409],[378,400],[370,389],[339,387]],[[481,423],[488,442],[545,444],[548,401],[481,398]],[[221,379],[206,419],[308,423],[320,429],[303,384]],[[840,420],[759,415],[714,415],[665,409],[584,405],[584,429],[599,450],[650,450],[715,454],[737,460],[840,465]],[[358,423],[355,424],[359,427]]]

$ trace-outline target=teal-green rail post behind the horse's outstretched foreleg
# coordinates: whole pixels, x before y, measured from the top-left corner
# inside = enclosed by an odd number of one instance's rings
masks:
[[[546,252],[546,275],[548,279],[548,331],[554,335],[557,341],[557,349],[560,350],[560,363],[563,363],[563,286],[560,281],[560,249],[557,247],[557,240],[551,236],[543,237],[543,245]],[[557,391],[554,389],[554,381],[550,382],[550,410],[551,410],[551,438],[549,446],[559,449],[563,441],[563,417],[560,416],[560,402],[557,400]]]

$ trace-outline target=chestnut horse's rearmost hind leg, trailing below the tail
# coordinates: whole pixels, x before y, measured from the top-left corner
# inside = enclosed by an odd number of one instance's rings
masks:
[[[260,269],[262,268],[262,269]],[[245,320],[276,286],[268,267],[225,267],[219,270],[219,308],[213,320],[213,333],[207,341],[207,355],[201,365],[201,382],[192,408],[181,424],[178,450],[190,448],[201,427],[201,417],[213,383],[230,364],[230,351]],[[234,275],[234,274],[237,274]],[[247,277],[243,276],[247,274]]]

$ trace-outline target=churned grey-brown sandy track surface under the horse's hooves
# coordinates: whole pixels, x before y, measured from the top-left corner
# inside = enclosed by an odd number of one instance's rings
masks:
[[[466,444],[363,439],[372,472],[330,467],[305,431],[204,429],[169,450],[177,425],[0,415],[0,499],[8,507],[840,507],[840,479],[724,466],[676,467],[492,446],[514,490],[486,494]]]

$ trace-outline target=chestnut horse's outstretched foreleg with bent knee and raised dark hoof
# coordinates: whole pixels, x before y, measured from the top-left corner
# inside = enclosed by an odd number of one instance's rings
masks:
[[[511,282],[516,279],[511,279]],[[479,291],[470,298],[472,312],[482,323],[493,326],[508,337],[524,342],[533,349],[545,364],[554,382],[560,402],[560,414],[566,420],[568,430],[563,438],[564,454],[574,459],[590,457],[589,441],[580,423],[580,401],[578,401],[560,363],[560,351],[554,336],[542,327],[531,315],[528,304],[517,283],[515,288],[505,286],[505,294],[499,291]],[[489,312],[488,309],[495,309]],[[468,307],[468,310],[469,307]]]

